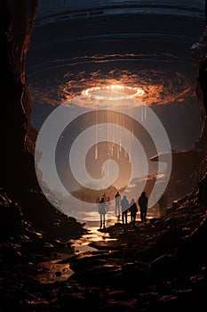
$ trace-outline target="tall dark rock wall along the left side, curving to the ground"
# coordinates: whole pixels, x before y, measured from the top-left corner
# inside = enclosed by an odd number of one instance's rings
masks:
[[[46,201],[36,179],[32,154],[36,131],[31,127],[31,102],[25,85],[25,62],[36,17],[37,1],[6,1],[0,4],[2,46],[1,90],[4,114],[1,114],[1,171],[3,192],[18,202],[26,219],[38,230],[68,236],[82,234],[75,219],[60,214]],[[41,212],[40,212],[41,211]],[[41,218],[40,218],[41,213]],[[67,230],[54,226],[60,219]],[[61,222],[60,222],[61,223]],[[65,233],[66,234],[66,233]]]

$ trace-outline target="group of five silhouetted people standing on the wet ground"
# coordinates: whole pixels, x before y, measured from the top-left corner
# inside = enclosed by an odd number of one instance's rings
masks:
[[[108,210],[108,204],[110,200],[109,197],[106,197],[106,193],[101,197],[100,201],[97,201],[100,213],[100,228],[106,227],[106,214]],[[122,216],[122,223],[128,223],[128,212],[131,215],[131,225],[135,226],[135,221],[137,217],[137,212],[139,208],[140,220],[142,223],[147,221],[147,207],[148,207],[148,198],[145,192],[142,192],[137,200],[137,202],[132,198],[131,201],[128,201],[126,195],[121,197],[119,192],[115,193],[115,216],[120,218]]]

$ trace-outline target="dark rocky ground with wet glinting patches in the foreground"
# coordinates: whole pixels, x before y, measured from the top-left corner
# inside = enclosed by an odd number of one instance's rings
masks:
[[[206,259],[195,263],[194,245],[185,246],[202,222],[205,208],[188,202],[145,225],[92,226],[78,240],[56,242],[44,257],[4,267],[2,311],[198,308],[207,289]]]

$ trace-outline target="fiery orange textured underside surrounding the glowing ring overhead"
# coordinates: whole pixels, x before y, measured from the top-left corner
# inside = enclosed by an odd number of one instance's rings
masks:
[[[103,86],[109,87],[109,90],[106,88],[104,92],[113,93],[112,100],[116,102],[119,99],[115,99],[115,94],[122,94],[124,91],[123,101],[128,94],[127,96],[131,96],[131,99],[141,100],[147,106],[183,103],[196,96],[194,81],[191,78],[179,71],[165,73],[163,70],[139,70],[135,72],[116,69],[104,75],[100,70],[90,73],[86,71],[68,72],[54,82],[48,82],[47,85],[40,78],[37,85],[32,84],[31,89],[34,101],[37,103],[60,105],[79,95],[84,98],[87,96],[90,101],[94,100],[94,95],[100,94]],[[136,88],[134,86],[141,87]],[[84,106],[83,103],[80,105]],[[94,107],[94,103],[91,107]]]

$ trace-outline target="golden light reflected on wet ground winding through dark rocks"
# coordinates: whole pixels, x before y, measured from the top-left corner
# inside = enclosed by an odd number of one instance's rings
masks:
[[[107,218],[106,227],[114,226],[115,223],[122,223],[122,218],[115,218],[113,216],[113,211],[109,211]],[[158,209],[150,209],[148,213],[148,218],[157,218],[159,217]],[[130,223],[130,215],[128,216]],[[139,220],[139,214],[138,218]],[[74,253],[71,254],[71,251],[60,253],[58,259],[52,259],[49,261],[39,263],[38,274],[36,279],[40,283],[57,283],[67,281],[68,278],[73,275],[75,272],[70,268],[70,261],[74,258],[88,258],[92,257],[94,253],[104,252],[104,249],[101,248],[97,250],[93,246],[93,242],[97,245],[97,242],[112,242],[116,241],[115,237],[110,237],[109,233],[100,229],[99,220],[87,221],[84,223],[84,227],[87,229],[88,233],[84,234],[82,237],[76,240],[69,240],[67,243],[71,245],[74,249]],[[106,246],[106,244],[103,244]],[[106,250],[110,252],[110,250]]]

